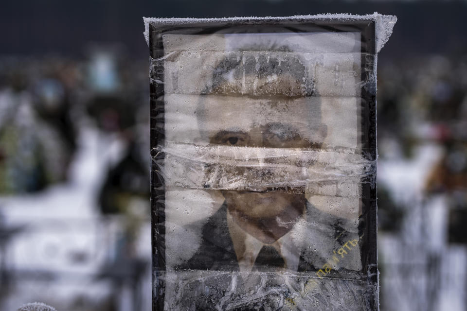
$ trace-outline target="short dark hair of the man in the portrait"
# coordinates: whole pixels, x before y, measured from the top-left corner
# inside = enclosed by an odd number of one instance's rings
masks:
[[[315,91],[315,81],[309,74],[311,66],[304,63],[299,53],[276,43],[255,43],[241,45],[238,51],[225,52],[227,55],[213,66],[212,82],[200,94],[196,114],[200,135],[207,114],[204,96],[227,95],[282,100],[314,97],[309,109],[310,124],[314,129],[323,129],[321,122],[321,101]],[[314,66],[314,65],[313,65]],[[256,80],[256,83],[254,83]],[[321,145],[323,141],[318,141]]]

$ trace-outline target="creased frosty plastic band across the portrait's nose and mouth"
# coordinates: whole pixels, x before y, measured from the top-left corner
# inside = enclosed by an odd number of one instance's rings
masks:
[[[376,161],[358,154],[279,149],[169,144],[154,160],[166,186],[214,190],[288,190],[359,197],[362,178],[373,176]]]

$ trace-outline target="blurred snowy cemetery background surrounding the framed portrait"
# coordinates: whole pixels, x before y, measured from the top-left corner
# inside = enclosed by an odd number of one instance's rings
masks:
[[[143,16],[375,11],[381,310],[467,310],[467,0],[2,0],[0,311],[150,310]]]

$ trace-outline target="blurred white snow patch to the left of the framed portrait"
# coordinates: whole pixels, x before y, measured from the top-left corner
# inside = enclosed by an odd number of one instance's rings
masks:
[[[0,311],[45,299],[52,299],[56,308],[80,296],[99,301],[112,290],[108,281],[94,278],[112,256],[121,226],[118,218],[101,216],[96,196],[108,167],[126,146],[116,136],[89,127],[79,133],[68,182],[35,194],[0,198],[5,225],[24,226],[7,249],[7,268],[15,271],[16,280]],[[150,224],[142,230],[138,249],[149,259]],[[45,277],[48,274],[53,280]]]

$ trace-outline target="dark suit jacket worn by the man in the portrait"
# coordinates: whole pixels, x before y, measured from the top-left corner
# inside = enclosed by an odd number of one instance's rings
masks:
[[[227,206],[222,205],[202,226],[198,251],[168,272],[165,309],[275,311],[282,310],[286,299],[291,299],[295,310],[374,310],[372,293],[376,289],[360,277],[359,271],[339,268],[332,277],[320,279],[316,275],[336,245],[358,239],[355,220],[330,215],[311,204],[306,207],[306,220],[314,228],[308,233],[311,238],[329,239],[322,243],[326,250],[319,251],[320,243],[316,243],[316,251],[304,247],[309,252],[303,251],[299,271],[291,274],[240,273],[227,225]]]

